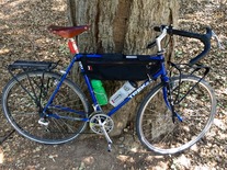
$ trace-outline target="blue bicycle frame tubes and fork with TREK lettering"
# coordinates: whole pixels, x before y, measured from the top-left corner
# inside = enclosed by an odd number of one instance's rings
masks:
[[[69,107],[64,107],[64,106],[60,106],[60,105],[53,105],[53,101],[55,99],[55,95],[57,94],[58,90],[60,89],[64,80],[67,78],[69,71],[71,70],[73,64],[76,61],[79,61],[80,58],[82,57],[83,55],[80,55],[80,54],[77,54],[73,56],[71,63],[69,64],[69,66],[66,68],[66,71],[65,73],[61,76],[55,91],[53,92],[53,94],[50,95],[47,104],[45,105],[44,110],[43,110],[43,113],[45,116],[52,116],[52,117],[55,117],[55,118],[69,118],[71,120],[71,117],[67,117],[67,116],[60,116],[58,114],[46,114],[46,111],[49,106],[52,107],[55,107],[55,109],[58,109],[58,110],[64,110],[64,111],[67,111],[67,112],[71,112],[71,113],[75,113],[75,114],[87,114],[87,113],[83,113],[83,112],[78,112],[78,111],[75,111],[75,110],[71,110]],[[93,57],[94,55],[92,55]],[[87,57],[89,57],[89,55],[87,55]],[[99,55],[97,55],[97,57],[99,57]],[[127,102],[129,102],[135,95],[137,95],[140,91],[143,91],[147,86],[149,86],[154,80],[156,80],[157,78],[160,77],[161,79],[161,82],[162,83],[167,83],[169,81],[169,77],[167,76],[167,69],[164,67],[164,57],[162,54],[160,55],[157,55],[157,56],[150,56],[150,59],[154,59],[154,60],[160,60],[161,61],[161,69],[156,73],[151,78],[148,78],[147,80],[144,81],[144,83],[141,83],[137,89],[135,89],[123,102],[121,102],[117,106],[113,107],[109,113],[107,115],[109,116],[112,116],[116,111],[118,111],[122,106],[124,106]],[[98,100],[94,95],[94,91],[91,87],[91,82],[90,82],[90,79],[89,77],[84,73],[84,69],[83,69],[83,66],[81,64],[81,61],[79,61],[79,67],[80,67],[80,70],[81,72],[83,73],[83,77],[84,77],[84,80],[86,80],[86,83],[88,86],[88,89],[89,89],[89,92],[90,92],[90,95],[91,95],[91,99],[92,99],[92,102],[93,102],[93,107],[94,107],[94,111],[95,112],[99,112],[99,111],[102,111],[101,106],[99,105],[98,103]],[[168,94],[167,94],[167,87],[164,86],[163,89],[163,99],[166,101],[166,104],[167,106],[170,109],[170,104],[168,102]],[[89,122],[89,118],[73,118],[73,120],[77,120],[77,121],[83,121],[83,122]]]

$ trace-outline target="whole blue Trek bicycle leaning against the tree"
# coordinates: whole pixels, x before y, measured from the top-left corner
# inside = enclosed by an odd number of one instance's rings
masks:
[[[114,128],[111,116],[158,79],[160,82],[149,91],[137,112],[136,132],[144,146],[161,155],[177,154],[194,145],[209,129],[216,113],[216,98],[204,80],[208,67],[197,63],[209,52],[211,37],[217,38],[212,29],[206,27],[206,33],[200,34],[172,26],[156,26],[155,31],[161,33],[147,46],[157,45],[156,55],[79,54],[73,37],[88,31],[88,25],[50,26],[49,30],[68,38],[69,48],[75,54],[63,75],[53,71],[58,63],[50,61],[16,60],[8,67],[12,79],[3,89],[2,109],[9,123],[22,136],[42,144],[63,144],[77,138],[89,124],[95,134],[105,136],[111,150],[109,133]],[[166,69],[161,46],[167,35],[195,38],[204,44],[203,52],[189,64],[169,63],[179,72],[174,77]],[[93,111],[79,86],[67,78],[76,61],[86,80]],[[183,73],[185,67],[191,70],[189,75]],[[109,70],[113,68],[115,73]],[[129,69],[129,73],[124,69]],[[13,73],[14,70],[22,72]],[[202,77],[195,76],[198,70],[204,70]],[[103,113],[91,79],[143,80],[143,83],[110,112]]]

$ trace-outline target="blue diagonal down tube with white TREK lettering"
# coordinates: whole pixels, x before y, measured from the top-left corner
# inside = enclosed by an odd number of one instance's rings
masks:
[[[141,90],[144,90],[147,86],[149,86],[152,80],[145,81],[140,87],[138,87],[133,93],[130,93],[122,103],[117,106],[113,107],[107,115],[112,116],[116,111],[118,111],[122,106],[124,106],[127,102],[129,102],[135,95],[137,95]]]

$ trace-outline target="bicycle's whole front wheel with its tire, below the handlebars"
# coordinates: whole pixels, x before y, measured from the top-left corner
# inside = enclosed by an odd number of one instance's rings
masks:
[[[197,86],[178,104],[174,111],[182,122],[174,118],[163,100],[163,83],[156,86],[145,98],[137,113],[136,128],[141,144],[149,150],[160,155],[181,152],[198,141],[209,129],[215,113],[216,98],[211,86],[195,76],[182,76],[170,80],[172,99],[177,98],[180,84],[180,95],[189,88]],[[162,113],[163,112],[163,113]]]

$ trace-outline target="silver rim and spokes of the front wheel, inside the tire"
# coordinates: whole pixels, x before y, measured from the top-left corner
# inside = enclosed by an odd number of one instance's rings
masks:
[[[190,80],[190,83],[197,82],[197,79],[192,78],[183,79],[184,82],[186,82],[185,80]],[[182,90],[181,93],[186,91],[188,86],[183,84],[185,90]],[[180,113],[183,118],[182,123],[177,120],[175,124],[173,124],[171,112],[169,110],[166,110],[163,112],[164,114],[161,114],[162,112],[160,111],[163,110],[161,109],[163,105],[159,107],[155,106],[164,103],[163,99],[159,102],[157,102],[156,99],[156,97],[162,95],[160,94],[161,87],[159,87],[157,92],[152,94],[154,98],[150,98],[150,100],[147,101],[141,111],[143,116],[140,116],[139,120],[138,132],[140,133],[140,140],[149,149],[159,154],[175,154],[189,148],[204,136],[211,127],[216,104],[212,105],[212,103],[215,103],[215,99],[209,87],[207,88],[205,83],[200,83],[200,87],[201,88],[196,87],[196,89],[180,103],[181,107],[180,105],[175,106],[175,111]],[[200,99],[198,103],[196,103],[197,98]],[[209,103],[209,105],[207,103]],[[159,109],[159,111],[155,113],[157,109]]]

